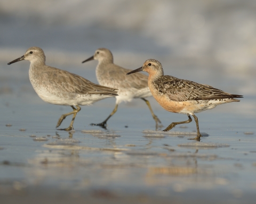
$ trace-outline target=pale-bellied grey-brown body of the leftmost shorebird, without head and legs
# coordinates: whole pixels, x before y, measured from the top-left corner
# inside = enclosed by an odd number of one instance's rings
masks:
[[[87,105],[117,96],[115,88],[100,86],[77,74],[47,65],[30,65],[29,79],[38,96],[52,104]]]

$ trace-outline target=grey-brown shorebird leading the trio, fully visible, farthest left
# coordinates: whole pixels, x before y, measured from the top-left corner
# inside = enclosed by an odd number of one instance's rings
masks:
[[[73,114],[71,123],[68,128],[59,130],[74,129],[73,123],[76,114],[81,110],[80,105],[91,105],[98,100],[118,96],[117,89],[100,86],[77,74],[47,66],[45,59],[41,48],[30,47],[25,55],[9,62],[8,65],[22,60],[30,61],[29,80],[37,95],[50,104],[71,106],[73,111],[61,115],[56,128],[66,116]]]

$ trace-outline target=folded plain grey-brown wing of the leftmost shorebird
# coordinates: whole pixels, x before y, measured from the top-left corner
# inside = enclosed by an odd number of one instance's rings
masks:
[[[77,94],[103,94],[103,95],[117,95],[117,89],[100,86],[99,84],[92,83],[91,81],[80,77],[77,74],[73,74],[67,71],[59,70],[55,67],[54,72],[46,72],[49,81],[54,87],[58,87],[59,90],[69,93]]]

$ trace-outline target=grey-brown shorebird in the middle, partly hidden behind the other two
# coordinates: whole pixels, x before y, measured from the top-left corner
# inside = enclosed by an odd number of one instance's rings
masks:
[[[149,101],[146,99],[146,97],[152,96],[148,88],[147,75],[137,73],[132,77],[127,77],[126,73],[131,70],[124,69],[123,67],[114,64],[113,54],[106,48],[97,49],[93,56],[87,58],[87,60],[82,63],[91,60],[99,61],[98,66],[96,67],[96,77],[99,84],[118,89],[118,96],[116,96],[116,105],[113,112],[111,112],[105,121],[91,125],[99,125],[102,128],[106,128],[107,121],[116,113],[117,107],[122,101],[131,101],[133,98],[141,98],[146,102],[149,111],[156,122],[156,130],[162,128],[161,121],[154,114]]]

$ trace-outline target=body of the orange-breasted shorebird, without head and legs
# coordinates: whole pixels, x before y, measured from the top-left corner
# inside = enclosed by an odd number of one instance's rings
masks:
[[[241,95],[213,88],[206,84],[163,75],[149,83],[154,98],[166,111],[199,113],[220,104],[240,101]]]

